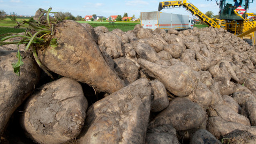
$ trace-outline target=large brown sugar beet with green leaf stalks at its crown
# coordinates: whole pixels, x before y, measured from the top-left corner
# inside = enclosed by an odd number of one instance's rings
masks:
[[[100,92],[113,93],[124,87],[84,26],[65,20],[56,25],[55,36],[59,43],[56,48],[37,48],[39,59],[50,71],[92,85]]]

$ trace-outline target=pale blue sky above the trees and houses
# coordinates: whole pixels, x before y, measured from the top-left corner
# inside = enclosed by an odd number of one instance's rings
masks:
[[[252,0],[250,0],[252,1]],[[0,10],[4,10],[7,14],[15,12],[18,15],[33,16],[39,8],[48,10],[52,7],[53,12],[71,12],[73,16],[82,16],[96,14],[97,16],[109,17],[111,15],[124,15],[128,13],[129,17],[133,14],[139,18],[140,12],[157,11],[159,2],[162,1],[146,1],[146,0],[125,0],[125,1],[59,1],[59,0],[0,0]],[[198,7],[202,12],[213,11],[214,15],[218,14],[219,6],[216,2],[205,0],[187,1]],[[185,8],[164,9],[162,12],[190,15]],[[256,1],[250,4],[248,12],[256,13]],[[190,15],[191,16],[191,15]]]

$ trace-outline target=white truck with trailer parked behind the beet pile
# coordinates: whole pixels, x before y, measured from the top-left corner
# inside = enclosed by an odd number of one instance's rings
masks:
[[[164,12],[141,12],[140,25],[144,28],[161,28],[168,31],[169,28],[183,30],[193,28],[193,22],[189,16],[182,14],[164,13]]]

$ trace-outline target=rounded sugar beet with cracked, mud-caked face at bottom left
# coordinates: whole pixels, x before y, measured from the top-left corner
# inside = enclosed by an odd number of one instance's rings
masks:
[[[26,102],[21,125],[39,143],[63,143],[81,132],[87,100],[81,85],[61,78],[39,88]]]

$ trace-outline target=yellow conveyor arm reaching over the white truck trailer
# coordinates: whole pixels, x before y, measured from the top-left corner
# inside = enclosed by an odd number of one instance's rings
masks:
[[[192,14],[200,18],[202,21],[205,22],[206,25],[212,26],[215,28],[220,28],[220,25],[215,22],[213,19],[207,17],[204,13],[198,10],[197,7],[195,7],[191,3],[187,3],[186,0],[184,1],[164,1],[159,3],[158,11],[161,11],[164,8],[175,8],[184,6],[187,10],[189,10]]]

